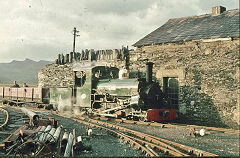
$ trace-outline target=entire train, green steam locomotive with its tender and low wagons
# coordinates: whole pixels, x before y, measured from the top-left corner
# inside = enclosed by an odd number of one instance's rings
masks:
[[[73,87],[13,88],[22,91],[21,97],[16,96],[17,92],[14,97],[48,102],[59,111],[70,110],[75,114],[146,121],[174,120],[176,110],[170,99],[159,84],[152,81],[152,66],[153,63],[147,63],[146,78],[129,78],[127,70],[116,67],[94,62],[75,65]],[[8,96],[4,90],[6,88],[0,87],[0,97],[10,98],[11,88],[7,88]]]

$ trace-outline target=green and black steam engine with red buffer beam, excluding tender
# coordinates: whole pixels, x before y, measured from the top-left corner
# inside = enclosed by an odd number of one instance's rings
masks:
[[[147,121],[173,120],[176,110],[152,81],[153,63],[147,63],[146,78],[129,78],[127,70],[94,67],[92,69],[91,109],[109,117]],[[118,75],[117,75],[118,74]]]

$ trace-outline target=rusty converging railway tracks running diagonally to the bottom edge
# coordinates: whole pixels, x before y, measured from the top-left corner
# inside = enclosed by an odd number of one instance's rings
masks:
[[[138,149],[141,149],[147,156],[218,156],[203,150],[99,120],[86,119],[84,117],[78,117],[73,120],[115,133],[126,142],[134,145]]]

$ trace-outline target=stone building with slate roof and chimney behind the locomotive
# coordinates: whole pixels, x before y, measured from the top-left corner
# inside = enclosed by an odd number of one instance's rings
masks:
[[[239,127],[239,9],[170,19],[133,46],[130,69],[154,62],[182,119]]]

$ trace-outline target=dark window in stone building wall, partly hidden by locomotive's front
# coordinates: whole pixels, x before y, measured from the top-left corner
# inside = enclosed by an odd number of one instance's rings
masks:
[[[171,100],[172,107],[178,109],[179,81],[177,77],[163,77],[163,92]]]

